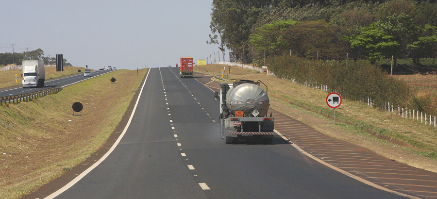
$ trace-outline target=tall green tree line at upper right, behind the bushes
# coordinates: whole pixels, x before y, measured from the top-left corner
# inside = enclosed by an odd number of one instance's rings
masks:
[[[210,28],[207,43],[242,63],[437,56],[436,0],[213,0]]]

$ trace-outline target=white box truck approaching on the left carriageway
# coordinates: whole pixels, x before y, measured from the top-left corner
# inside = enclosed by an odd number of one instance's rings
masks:
[[[23,88],[43,87],[46,79],[44,61],[23,60]]]

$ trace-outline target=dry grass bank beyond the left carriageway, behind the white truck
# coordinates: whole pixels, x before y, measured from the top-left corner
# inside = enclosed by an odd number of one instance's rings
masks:
[[[63,72],[56,72],[56,66],[45,67],[46,80],[76,74],[79,73],[78,70],[84,72],[85,68],[69,66],[69,67],[64,67]],[[0,88],[22,85],[22,81],[23,81],[23,78],[21,77],[22,72],[23,72],[22,69],[0,71]],[[16,81],[15,75],[17,75],[17,82],[15,82]]]

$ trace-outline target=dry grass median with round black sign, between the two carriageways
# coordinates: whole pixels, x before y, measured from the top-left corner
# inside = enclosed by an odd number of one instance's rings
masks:
[[[19,198],[99,149],[146,71],[137,77],[134,70],[117,70],[54,95],[0,106],[0,198]],[[76,101],[84,105],[82,116],[72,115]]]

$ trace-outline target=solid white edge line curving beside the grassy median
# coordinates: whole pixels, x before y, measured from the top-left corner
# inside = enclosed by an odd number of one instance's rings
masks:
[[[141,87],[141,91],[138,95],[138,98],[136,99],[136,103],[134,106],[134,110],[132,111],[131,116],[129,117],[129,121],[126,124],[126,127],[124,127],[123,132],[120,134],[120,136],[118,137],[117,141],[114,143],[114,145],[112,145],[111,149],[109,149],[101,158],[99,161],[97,161],[96,163],[94,163],[94,165],[90,166],[89,168],[87,168],[84,172],[82,172],[81,174],[79,174],[76,178],[74,178],[71,182],[68,182],[65,186],[63,186],[62,188],[60,188],[59,190],[55,191],[54,193],[50,194],[48,197],[44,198],[44,199],[53,199],[56,196],[58,196],[59,194],[62,194],[64,191],[66,191],[67,189],[69,189],[70,187],[72,187],[76,182],[79,182],[82,178],[84,178],[86,176],[86,174],[88,174],[89,172],[91,172],[95,167],[99,166],[101,162],[103,162],[108,156],[109,154],[111,154],[111,152],[117,147],[118,143],[120,142],[121,138],[123,137],[123,135],[126,133],[127,129],[129,128],[129,125],[131,124],[132,118],[134,116],[136,107],[138,105],[139,99],[141,97],[141,93],[143,92],[144,86],[146,85],[147,82],[147,78],[149,77],[149,73],[150,73],[150,68],[147,71],[147,76],[146,79],[144,80],[143,86]]]

